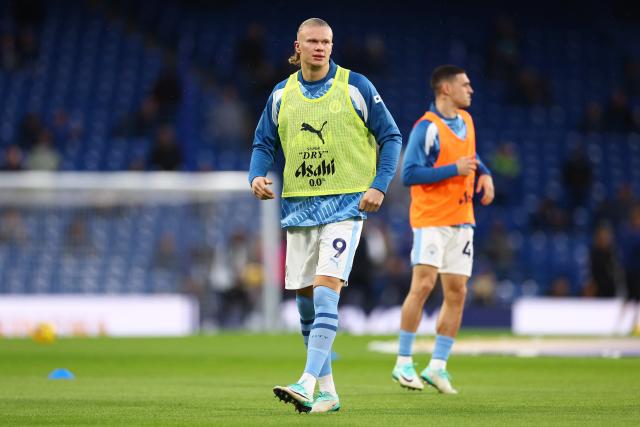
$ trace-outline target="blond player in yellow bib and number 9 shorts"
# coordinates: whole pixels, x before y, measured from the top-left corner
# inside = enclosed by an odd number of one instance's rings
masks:
[[[271,93],[249,171],[254,195],[272,199],[266,174],[276,150],[282,150],[285,288],[296,291],[307,359],[296,383],[273,392],[300,412],[340,409],[331,370],[340,291],[347,285],[363,220],[380,208],[402,145],[376,89],[361,74],[336,65],[332,48],[333,32],[325,21],[311,18],[300,25],[289,59],[300,71]]]

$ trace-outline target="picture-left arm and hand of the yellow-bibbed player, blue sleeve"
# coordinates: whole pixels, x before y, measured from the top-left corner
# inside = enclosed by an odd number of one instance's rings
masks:
[[[276,147],[280,143],[277,126],[277,110],[280,104],[279,97],[276,99],[277,90],[278,86],[269,96],[253,137],[251,163],[249,165],[249,185],[251,185],[253,194],[260,200],[268,200],[275,197],[273,190],[269,188],[273,182],[267,178],[267,172],[273,166]],[[277,102],[274,102],[274,99]]]

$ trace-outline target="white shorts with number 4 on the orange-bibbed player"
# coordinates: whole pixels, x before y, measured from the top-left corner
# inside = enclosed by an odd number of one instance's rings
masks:
[[[432,265],[439,273],[471,277],[473,228],[414,228],[411,265],[417,264]]]

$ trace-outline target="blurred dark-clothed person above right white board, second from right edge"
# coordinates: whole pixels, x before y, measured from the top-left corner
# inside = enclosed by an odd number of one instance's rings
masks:
[[[594,231],[589,261],[591,280],[586,295],[599,298],[615,297],[621,279],[621,269],[614,246],[613,231],[609,225],[600,224]]]

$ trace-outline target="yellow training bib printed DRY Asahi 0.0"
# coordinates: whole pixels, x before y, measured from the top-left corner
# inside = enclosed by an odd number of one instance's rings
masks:
[[[373,135],[351,104],[349,70],[338,67],[317,99],[300,90],[298,72],[284,87],[278,134],[285,157],[282,197],[366,191],[376,174]]]

